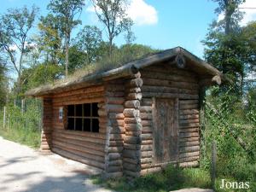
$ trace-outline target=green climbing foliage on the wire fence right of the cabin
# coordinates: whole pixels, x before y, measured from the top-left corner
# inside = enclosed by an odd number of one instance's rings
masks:
[[[208,90],[206,100],[206,125],[201,129],[201,167],[209,170],[212,141],[215,140],[218,148],[217,176],[250,182],[253,189],[256,184],[256,126],[251,117],[255,116],[255,109],[247,110],[246,105],[232,96],[232,89],[212,96],[209,92],[216,89]]]

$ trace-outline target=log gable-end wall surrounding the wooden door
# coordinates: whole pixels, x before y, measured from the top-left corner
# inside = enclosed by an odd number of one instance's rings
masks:
[[[199,158],[199,85],[196,74],[178,69],[169,63],[158,63],[141,70],[143,86],[140,110],[142,129],[141,175],[160,171],[163,164],[154,163],[153,151],[153,97],[178,99],[180,166],[196,166]],[[177,162],[178,163],[178,162]]]

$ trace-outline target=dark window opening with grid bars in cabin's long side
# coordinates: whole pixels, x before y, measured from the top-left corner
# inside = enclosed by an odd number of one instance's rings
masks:
[[[67,130],[99,132],[96,102],[67,106]]]

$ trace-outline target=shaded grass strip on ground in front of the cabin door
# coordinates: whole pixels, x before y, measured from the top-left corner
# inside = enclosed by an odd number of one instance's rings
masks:
[[[105,188],[120,192],[166,192],[184,188],[211,188],[211,177],[209,172],[200,168],[180,168],[167,166],[163,172],[148,174],[136,178],[131,183],[125,177],[116,179],[103,179],[92,177],[93,183],[100,184]]]

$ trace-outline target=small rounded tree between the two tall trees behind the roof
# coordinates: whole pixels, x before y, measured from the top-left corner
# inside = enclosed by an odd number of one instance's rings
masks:
[[[102,43],[102,32],[96,26],[84,26],[77,35],[76,45],[87,55],[87,63],[96,61]]]

